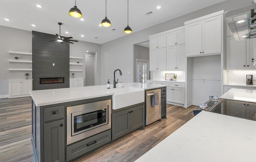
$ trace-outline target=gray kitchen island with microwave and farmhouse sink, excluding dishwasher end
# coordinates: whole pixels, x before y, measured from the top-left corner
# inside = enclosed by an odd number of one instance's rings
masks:
[[[30,91],[35,161],[71,162],[132,131],[144,129],[145,91],[164,87],[124,83],[115,89],[98,85]],[[86,115],[93,118],[84,126]],[[113,121],[119,117],[122,122]]]

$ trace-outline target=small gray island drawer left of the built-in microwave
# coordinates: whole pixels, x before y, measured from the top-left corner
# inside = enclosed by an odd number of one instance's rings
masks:
[[[64,106],[44,108],[44,121],[52,121],[64,118]]]

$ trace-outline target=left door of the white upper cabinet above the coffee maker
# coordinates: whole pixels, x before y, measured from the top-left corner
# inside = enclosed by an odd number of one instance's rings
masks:
[[[227,37],[226,69],[246,69],[246,40]]]

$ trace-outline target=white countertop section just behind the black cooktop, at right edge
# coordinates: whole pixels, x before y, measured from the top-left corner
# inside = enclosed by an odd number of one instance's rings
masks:
[[[220,96],[220,98],[256,103],[256,90],[232,88]]]

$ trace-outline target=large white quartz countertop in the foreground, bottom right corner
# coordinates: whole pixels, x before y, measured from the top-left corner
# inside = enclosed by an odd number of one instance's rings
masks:
[[[256,121],[202,111],[136,162],[255,162]]]

